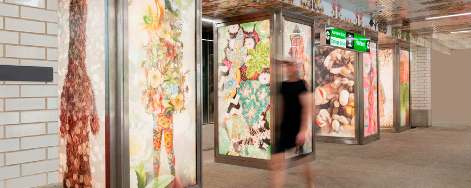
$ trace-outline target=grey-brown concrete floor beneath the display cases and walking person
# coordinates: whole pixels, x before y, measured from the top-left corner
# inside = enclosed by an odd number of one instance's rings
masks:
[[[471,188],[471,124],[435,123],[381,133],[367,145],[316,143],[316,188]],[[301,166],[286,188],[307,188]],[[214,163],[203,152],[204,188],[269,187],[270,171]]]

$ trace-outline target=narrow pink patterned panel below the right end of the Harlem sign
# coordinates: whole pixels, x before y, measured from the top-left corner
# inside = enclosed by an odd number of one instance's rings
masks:
[[[364,135],[378,133],[378,58],[377,44],[371,43],[370,53],[363,53]]]

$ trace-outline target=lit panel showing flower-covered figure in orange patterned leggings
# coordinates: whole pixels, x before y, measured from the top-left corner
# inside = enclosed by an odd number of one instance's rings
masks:
[[[128,11],[131,188],[195,185],[195,1],[130,0]]]

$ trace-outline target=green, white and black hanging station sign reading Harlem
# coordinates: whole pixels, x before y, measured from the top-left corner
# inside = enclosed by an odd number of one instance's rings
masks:
[[[321,45],[330,45],[359,52],[370,52],[370,38],[328,25],[322,25],[322,30],[323,28],[325,28],[325,33],[321,37]]]

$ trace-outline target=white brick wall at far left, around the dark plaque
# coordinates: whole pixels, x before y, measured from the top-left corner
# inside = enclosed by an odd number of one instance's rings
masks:
[[[0,0],[0,64],[54,68],[53,83],[0,82],[0,188],[58,181],[57,0]]]

